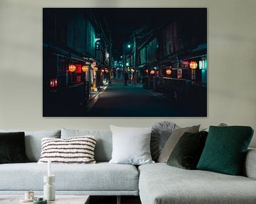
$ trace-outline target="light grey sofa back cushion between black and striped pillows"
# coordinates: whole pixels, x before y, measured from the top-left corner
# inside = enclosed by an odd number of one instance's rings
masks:
[[[29,162],[38,162],[40,159],[43,137],[60,138],[60,130],[0,130],[0,132],[25,132],[25,149]]]

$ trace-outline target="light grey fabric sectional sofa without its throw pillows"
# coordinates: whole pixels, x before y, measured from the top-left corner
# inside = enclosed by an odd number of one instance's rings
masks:
[[[0,130],[9,132],[10,130]],[[52,164],[56,194],[92,196],[140,196],[142,204],[256,203],[256,149],[248,149],[244,176],[211,171],[185,170],[165,163],[134,166],[109,164],[112,157],[110,131],[25,131],[29,163],[0,164],[0,197],[33,190],[43,193],[47,164],[38,164],[43,137],[95,135],[97,164]]]

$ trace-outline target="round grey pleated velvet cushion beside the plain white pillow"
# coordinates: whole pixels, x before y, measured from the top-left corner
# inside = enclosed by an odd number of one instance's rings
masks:
[[[169,121],[161,121],[152,125],[150,151],[151,157],[155,162],[159,159],[159,155],[164,149],[171,132],[177,128],[179,128],[178,125]]]

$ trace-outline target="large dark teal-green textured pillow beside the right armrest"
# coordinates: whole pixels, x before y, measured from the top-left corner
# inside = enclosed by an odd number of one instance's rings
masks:
[[[240,175],[252,135],[247,126],[210,126],[197,169]]]

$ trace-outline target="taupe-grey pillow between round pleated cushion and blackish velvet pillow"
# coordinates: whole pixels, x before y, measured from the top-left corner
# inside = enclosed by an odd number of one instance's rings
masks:
[[[199,130],[200,125],[195,125],[188,128],[178,128],[174,130],[169,139],[167,140],[166,144],[164,145],[164,149],[161,151],[158,161],[162,163],[166,163],[171,155],[171,152],[174,150],[178,140],[180,140],[181,136],[185,132],[196,133]]]

